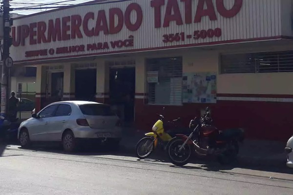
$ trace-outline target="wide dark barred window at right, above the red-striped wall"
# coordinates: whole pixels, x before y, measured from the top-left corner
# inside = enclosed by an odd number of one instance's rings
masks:
[[[221,55],[221,74],[293,72],[293,51]]]

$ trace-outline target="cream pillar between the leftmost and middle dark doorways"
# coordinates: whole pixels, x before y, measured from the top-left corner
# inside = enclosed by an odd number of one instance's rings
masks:
[[[64,65],[63,100],[75,99],[75,68],[71,64]]]

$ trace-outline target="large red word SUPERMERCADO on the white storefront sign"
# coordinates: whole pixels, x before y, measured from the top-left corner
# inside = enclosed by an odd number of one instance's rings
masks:
[[[12,27],[13,45],[23,46],[26,39],[29,40],[29,45],[35,45],[52,41],[98,37],[101,33],[104,35],[117,34],[122,30],[123,26],[129,31],[136,31],[142,24],[142,8],[137,3],[129,4],[125,13],[119,8],[111,8],[108,12],[108,17],[105,15],[105,10],[100,10],[97,13],[88,12],[84,17],[71,15],[46,22],[33,22],[28,25]],[[136,13],[134,23],[130,20],[132,12]],[[115,24],[115,17],[118,17],[117,24]],[[92,27],[89,28],[89,25]]]

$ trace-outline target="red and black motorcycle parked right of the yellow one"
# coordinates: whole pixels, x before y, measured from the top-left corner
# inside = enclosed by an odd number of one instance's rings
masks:
[[[211,123],[212,118],[207,107],[204,116],[190,121],[189,128],[194,129],[189,136],[178,134],[169,141],[168,156],[174,165],[186,165],[193,151],[200,156],[217,156],[221,164],[236,159],[238,143],[244,140],[244,130],[239,128],[220,131]]]

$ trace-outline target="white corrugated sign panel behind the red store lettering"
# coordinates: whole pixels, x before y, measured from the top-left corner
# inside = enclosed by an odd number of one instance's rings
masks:
[[[72,15],[80,15],[81,19],[84,20],[84,16],[88,12],[94,13],[95,20],[89,20],[88,26],[92,28],[96,24],[97,12],[99,10],[105,10],[106,20],[109,21],[109,8],[118,7],[125,12],[126,7],[130,3],[138,3],[141,6],[143,17],[141,26],[135,30],[130,31],[126,28],[126,25],[123,26],[122,30],[116,34],[107,34],[101,32],[99,36],[87,37],[84,34],[84,29],[81,27],[81,33],[83,38],[80,39],[69,39],[62,41],[51,41],[51,42],[42,42],[38,44],[29,45],[29,37],[25,39],[25,45],[20,46],[12,46],[11,47],[11,56],[17,61],[22,60],[40,60],[44,58],[68,58],[68,57],[76,57],[78,56],[89,56],[89,55],[101,55],[101,53],[124,53],[126,51],[131,52],[133,50],[153,50],[157,49],[165,49],[167,48],[180,48],[182,46],[188,45],[208,45],[215,44],[215,42],[219,42],[222,44],[224,42],[230,42],[231,40],[239,41],[246,39],[275,39],[275,37],[281,36],[281,9],[280,5],[281,0],[243,0],[242,7],[240,11],[232,18],[223,17],[216,8],[216,0],[212,0],[213,7],[215,9],[215,15],[217,20],[210,20],[208,16],[204,16],[200,22],[185,22],[185,4],[178,0],[178,7],[180,10],[182,23],[171,21],[169,26],[163,27],[163,20],[165,17],[165,12],[167,8],[167,0],[165,0],[165,5],[162,6],[161,11],[161,27],[155,28],[154,21],[154,9],[150,5],[150,0],[132,0],[132,1],[119,1],[115,3],[107,3],[107,4],[97,4],[97,5],[84,5],[78,7],[71,7],[68,9],[57,10],[54,12],[46,12],[40,13],[38,15],[33,15],[29,17],[24,17],[20,19],[14,20],[14,26],[12,27],[12,32],[16,30],[18,26],[27,25],[30,23],[38,23],[45,22],[46,29],[49,29],[49,20],[54,20],[57,18],[68,17]],[[234,5],[234,0],[225,0],[225,5],[227,9],[230,9]],[[241,1],[242,2],[242,1]],[[196,7],[198,4],[198,0],[192,0],[192,17],[194,20],[196,15]],[[287,10],[287,9],[286,9]],[[284,13],[284,16],[287,17],[287,11]],[[136,15],[131,14],[131,20],[136,20]],[[180,20],[180,19],[179,19]],[[287,22],[285,22],[286,25]],[[187,35],[193,35],[195,30],[208,30],[208,29],[216,29],[221,28],[222,33],[220,37],[210,37],[205,39],[188,39]],[[34,28],[36,30],[36,28]],[[47,36],[48,32],[45,32],[45,36]],[[164,42],[163,35],[165,34],[176,34],[176,33],[185,33],[185,39],[180,41],[172,41],[172,42]],[[85,50],[80,52],[72,52],[72,53],[63,53],[56,54],[56,48],[59,47],[68,47],[75,45],[85,45],[89,43],[98,43],[98,42],[108,42],[114,40],[126,40],[128,37],[132,35],[134,36],[133,41],[134,45],[129,47],[122,48],[112,48],[111,45],[109,49],[105,50]],[[38,57],[27,57],[25,58],[24,53],[26,51],[35,51],[35,50],[44,50],[44,49],[54,49],[55,53],[52,55],[44,55]],[[52,50],[51,50],[52,51]]]

